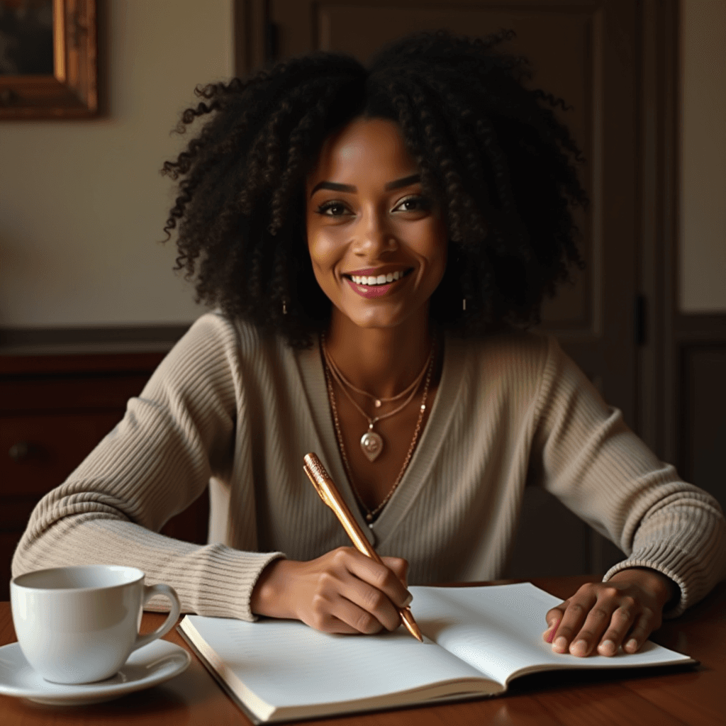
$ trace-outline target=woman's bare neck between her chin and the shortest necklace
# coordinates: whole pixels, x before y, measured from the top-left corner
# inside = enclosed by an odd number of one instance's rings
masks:
[[[327,350],[357,388],[383,398],[395,396],[416,378],[431,353],[428,309],[391,328],[362,328],[333,314]]]

